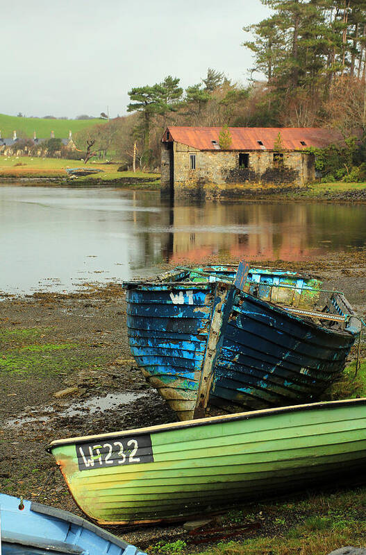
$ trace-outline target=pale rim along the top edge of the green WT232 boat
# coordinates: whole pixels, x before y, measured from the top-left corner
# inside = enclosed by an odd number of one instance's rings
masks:
[[[198,418],[197,420],[184,420],[181,422],[172,422],[169,424],[155,425],[144,428],[128,429],[120,432],[110,432],[106,434],[96,434],[92,436],[78,436],[66,439],[56,439],[47,447],[46,451],[51,453],[53,449],[63,447],[64,445],[74,445],[75,443],[90,443],[100,438],[142,436],[146,434],[160,434],[162,432],[171,432],[176,429],[190,429],[199,426],[213,425],[215,423],[238,422],[240,420],[251,420],[251,418],[260,418],[265,416],[273,416],[281,413],[294,413],[301,411],[311,411],[320,409],[332,409],[334,407],[349,407],[349,405],[364,405],[366,407],[366,398],[347,399],[339,401],[321,401],[316,403],[306,403],[291,405],[290,407],[276,407],[271,409],[260,409],[257,411],[246,411],[235,414],[225,414],[222,416],[211,416],[208,418]]]

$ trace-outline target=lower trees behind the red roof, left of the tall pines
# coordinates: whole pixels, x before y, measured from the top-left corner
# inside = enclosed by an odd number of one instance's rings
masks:
[[[249,103],[253,85],[233,83],[223,71],[208,68],[200,83],[183,89],[178,77],[167,76],[160,83],[133,87],[127,112],[131,115],[83,130],[79,144],[97,138],[98,149],[115,148],[126,165],[135,153],[140,167],[160,165],[160,142],[165,128],[180,126],[242,126],[251,123]]]

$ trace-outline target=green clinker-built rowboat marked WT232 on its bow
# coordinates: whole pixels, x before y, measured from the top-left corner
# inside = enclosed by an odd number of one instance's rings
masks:
[[[99,524],[178,520],[365,477],[366,398],[71,438],[48,451]]]

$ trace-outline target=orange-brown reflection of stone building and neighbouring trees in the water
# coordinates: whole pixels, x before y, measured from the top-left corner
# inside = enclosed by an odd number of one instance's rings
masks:
[[[165,214],[165,216],[164,216]],[[169,262],[211,255],[305,260],[366,242],[366,207],[315,203],[165,205]]]

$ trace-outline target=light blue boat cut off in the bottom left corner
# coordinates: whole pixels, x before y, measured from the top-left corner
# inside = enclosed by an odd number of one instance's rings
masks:
[[[0,493],[1,555],[146,555],[67,511]]]

